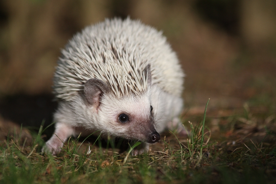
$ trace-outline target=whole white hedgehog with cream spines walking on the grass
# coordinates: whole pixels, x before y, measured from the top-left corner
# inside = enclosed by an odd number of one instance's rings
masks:
[[[161,32],[140,21],[115,18],[88,26],[57,64],[55,132],[43,151],[55,155],[71,135],[100,131],[142,141],[132,153],[137,155],[180,122],[184,74],[177,55]]]

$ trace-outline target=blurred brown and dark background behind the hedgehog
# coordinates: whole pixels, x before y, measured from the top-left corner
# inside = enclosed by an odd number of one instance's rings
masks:
[[[85,26],[127,16],[162,30],[177,52],[189,112],[210,98],[213,110],[275,114],[275,0],[0,0],[2,130],[50,124],[60,50]]]

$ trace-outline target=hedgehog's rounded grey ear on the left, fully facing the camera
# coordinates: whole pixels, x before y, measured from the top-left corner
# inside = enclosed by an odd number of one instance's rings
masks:
[[[100,95],[108,93],[109,88],[104,81],[91,78],[84,84],[83,91],[87,102],[97,110],[100,104]]]

